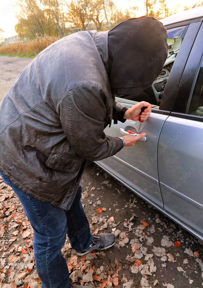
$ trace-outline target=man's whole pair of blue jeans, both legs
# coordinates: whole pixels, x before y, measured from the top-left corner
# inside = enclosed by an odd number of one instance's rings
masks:
[[[66,234],[77,252],[87,251],[93,242],[93,234],[90,233],[89,222],[80,202],[81,186],[70,209],[66,211],[29,196],[1,172],[0,175],[17,194],[33,227],[35,265],[42,288],[68,288],[68,267],[61,253]]]

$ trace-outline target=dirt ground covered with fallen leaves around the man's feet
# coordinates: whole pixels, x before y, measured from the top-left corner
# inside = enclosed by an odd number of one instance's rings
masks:
[[[81,186],[91,232],[114,233],[117,240],[106,251],[79,257],[67,239],[62,253],[74,283],[103,288],[202,287],[203,246],[197,238],[94,163],[86,166]],[[0,287],[41,287],[33,257],[32,228],[17,196],[2,180],[0,212]],[[8,248],[4,243],[7,233]],[[9,266],[4,266],[7,259]],[[6,267],[10,284],[3,284]]]

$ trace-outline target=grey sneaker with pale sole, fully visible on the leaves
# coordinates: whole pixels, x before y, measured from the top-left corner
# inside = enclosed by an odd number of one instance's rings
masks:
[[[102,233],[94,235],[93,242],[88,248],[88,251],[77,252],[79,256],[83,256],[91,252],[92,250],[106,250],[112,247],[116,243],[116,237],[114,234]]]

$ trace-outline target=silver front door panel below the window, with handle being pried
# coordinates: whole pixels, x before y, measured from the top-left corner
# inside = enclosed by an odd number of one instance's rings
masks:
[[[163,207],[163,201],[158,182],[157,145],[167,117],[168,115],[152,113],[140,126],[140,133],[146,133],[146,142],[137,141],[134,147],[125,147],[115,156],[98,161],[100,165],[109,171],[114,171],[114,175],[160,207]],[[119,122],[104,131],[112,137],[122,137],[120,128],[127,127],[126,131],[136,132],[139,125],[139,121],[126,120],[125,123]]]

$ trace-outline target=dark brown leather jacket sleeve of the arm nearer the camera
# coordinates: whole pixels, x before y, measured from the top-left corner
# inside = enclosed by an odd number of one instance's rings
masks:
[[[89,86],[71,90],[58,105],[63,131],[83,159],[101,160],[123,147],[121,139],[104,133],[106,110],[112,107],[108,101],[102,88]]]

